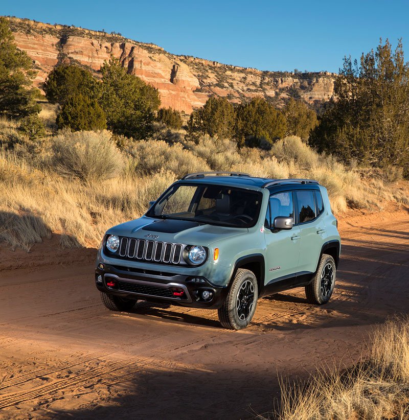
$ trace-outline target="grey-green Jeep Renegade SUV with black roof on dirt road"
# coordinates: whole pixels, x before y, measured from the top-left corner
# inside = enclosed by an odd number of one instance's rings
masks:
[[[319,182],[202,172],[106,232],[95,281],[110,310],[139,299],[217,309],[224,328],[239,330],[263,296],[302,286],[312,304],[328,302],[339,253]]]

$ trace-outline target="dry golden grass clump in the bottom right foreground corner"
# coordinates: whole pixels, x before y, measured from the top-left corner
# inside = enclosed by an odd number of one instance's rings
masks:
[[[409,318],[395,318],[372,334],[369,356],[351,368],[317,372],[306,384],[282,382],[276,420],[409,418]]]

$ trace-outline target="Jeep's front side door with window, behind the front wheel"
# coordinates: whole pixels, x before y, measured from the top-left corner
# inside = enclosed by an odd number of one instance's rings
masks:
[[[283,283],[283,288],[291,287],[293,276],[298,271],[300,258],[300,228],[275,230],[272,222],[277,216],[294,217],[291,192],[270,196],[266,215],[265,241],[267,246],[266,284]],[[267,226],[271,226],[268,228]]]

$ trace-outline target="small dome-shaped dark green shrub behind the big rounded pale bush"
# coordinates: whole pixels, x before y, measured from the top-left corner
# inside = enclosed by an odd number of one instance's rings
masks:
[[[62,105],[57,115],[58,128],[70,128],[74,131],[104,130],[106,116],[95,99],[81,94],[72,96]]]

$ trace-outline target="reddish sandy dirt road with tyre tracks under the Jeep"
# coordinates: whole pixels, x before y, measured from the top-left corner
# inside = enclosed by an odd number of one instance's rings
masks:
[[[216,311],[115,313],[94,286],[94,249],[0,249],[1,418],[252,418],[281,375],[350,364],[372,326],[409,308],[409,213],[348,215],[329,304],[304,290],[259,300],[243,331]]]

